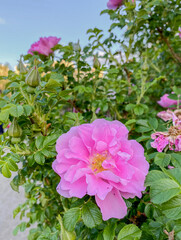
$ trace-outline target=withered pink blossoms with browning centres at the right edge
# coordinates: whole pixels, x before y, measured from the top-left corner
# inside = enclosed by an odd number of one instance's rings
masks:
[[[162,152],[166,147],[173,151],[181,151],[181,110],[167,110],[157,114],[164,121],[172,120],[172,126],[166,132],[156,132],[151,135],[153,148]]]

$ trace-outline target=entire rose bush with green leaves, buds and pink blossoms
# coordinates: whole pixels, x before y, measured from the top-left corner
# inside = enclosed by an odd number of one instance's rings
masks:
[[[34,226],[28,240],[181,238],[180,9],[125,0],[102,11],[108,33],[89,29],[85,47],[40,41],[1,77],[0,123],[11,124],[0,171],[14,171],[11,187],[26,196],[15,235]],[[164,94],[171,109],[157,104]]]

